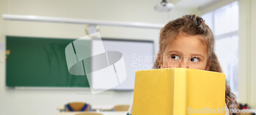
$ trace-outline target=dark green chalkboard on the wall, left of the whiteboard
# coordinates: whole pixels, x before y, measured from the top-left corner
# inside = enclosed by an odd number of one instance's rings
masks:
[[[75,39],[6,36],[6,86],[90,87],[68,72],[65,48]]]

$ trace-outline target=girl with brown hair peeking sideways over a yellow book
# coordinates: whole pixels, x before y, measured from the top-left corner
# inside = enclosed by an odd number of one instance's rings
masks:
[[[184,15],[169,21],[160,31],[159,53],[154,68],[194,68],[222,73],[214,52],[214,35],[201,17]],[[236,96],[226,84],[225,115],[227,108],[237,109]],[[127,112],[131,115],[133,102]],[[239,113],[233,113],[239,114]]]

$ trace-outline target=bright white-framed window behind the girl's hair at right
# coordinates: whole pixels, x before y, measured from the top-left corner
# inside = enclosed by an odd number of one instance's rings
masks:
[[[226,80],[238,98],[238,1],[202,15],[215,35],[215,53]]]

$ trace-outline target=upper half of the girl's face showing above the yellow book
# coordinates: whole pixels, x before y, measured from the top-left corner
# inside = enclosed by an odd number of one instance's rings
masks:
[[[197,36],[179,36],[170,42],[160,61],[161,68],[194,68],[209,71],[207,48]],[[160,60],[160,57],[159,57]]]

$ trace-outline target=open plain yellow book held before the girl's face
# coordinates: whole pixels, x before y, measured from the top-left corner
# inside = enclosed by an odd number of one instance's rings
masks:
[[[225,114],[225,74],[189,68],[136,71],[133,115]]]

